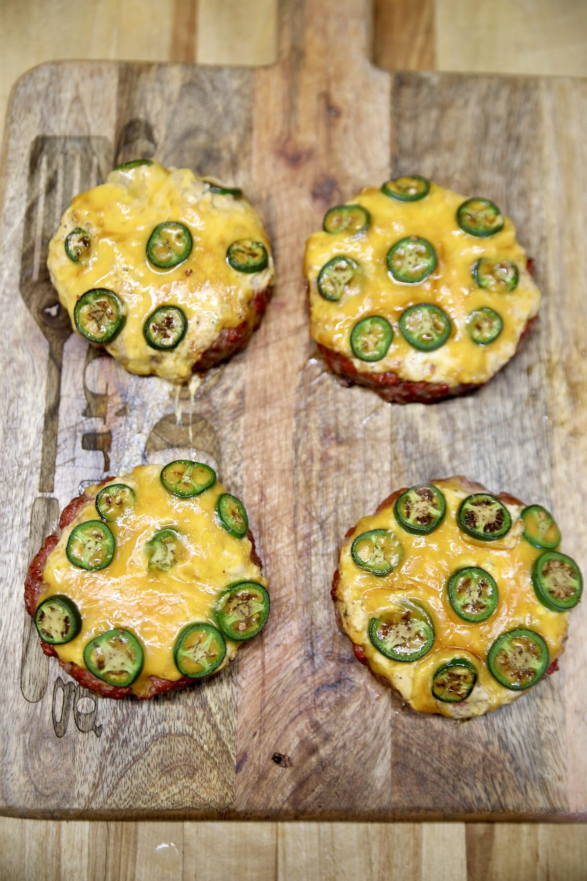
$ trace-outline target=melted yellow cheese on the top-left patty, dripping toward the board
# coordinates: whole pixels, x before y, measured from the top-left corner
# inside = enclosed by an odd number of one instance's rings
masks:
[[[153,230],[170,220],[187,227],[193,244],[186,260],[162,270],[147,259],[146,248]],[[75,263],[64,246],[77,228],[89,233],[91,245]],[[231,268],[226,253],[240,239],[267,248],[266,269]],[[267,234],[245,198],[212,193],[189,169],[156,162],[112,171],[106,183],[75,196],[49,242],[48,269],[74,329],[74,307],[84,292],[114,291],[124,304],[125,322],[106,350],[132,373],[178,382],[190,378],[223,329],[253,324],[253,298],[275,276]],[[187,332],[176,348],[162,352],[147,344],[143,327],[165,305],[182,309]]]

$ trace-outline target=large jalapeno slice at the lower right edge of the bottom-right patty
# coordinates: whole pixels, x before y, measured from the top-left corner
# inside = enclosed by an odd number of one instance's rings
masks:
[[[524,691],[547,672],[547,643],[525,627],[506,631],[488,651],[488,668],[501,685],[513,692]]]

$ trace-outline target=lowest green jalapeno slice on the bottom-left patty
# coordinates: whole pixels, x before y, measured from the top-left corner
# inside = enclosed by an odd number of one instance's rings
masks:
[[[84,648],[84,664],[109,685],[132,685],[143,670],[143,647],[133,633],[117,627],[90,640]]]

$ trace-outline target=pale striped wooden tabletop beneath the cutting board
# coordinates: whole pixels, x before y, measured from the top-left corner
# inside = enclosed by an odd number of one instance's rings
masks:
[[[587,76],[579,0],[378,0],[382,67]],[[53,58],[266,64],[275,0],[4,0],[0,126],[11,84]],[[2,129],[0,128],[0,131]],[[582,825],[114,823],[0,818],[3,878],[587,877]]]

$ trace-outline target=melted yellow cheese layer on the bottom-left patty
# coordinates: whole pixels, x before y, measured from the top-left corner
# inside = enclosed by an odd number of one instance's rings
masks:
[[[180,679],[173,663],[173,645],[180,630],[196,621],[216,625],[213,608],[221,590],[233,581],[259,581],[267,586],[259,566],[251,560],[248,538],[236,538],[222,526],[216,502],[224,491],[216,484],[199,496],[179,499],[167,492],[159,479],[160,465],[141,465],[131,474],[115,478],[135,491],[136,503],[119,521],[108,523],[114,533],[114,559],[105,569],[86,572],[72,566],[66,547],[70,533],[98,515],[98,486],[90,486],[87,505],[63,530],[59,544],[48,556],[43,580],[48,589],[40,596],[68,596],[82,616],[77,637],[55,651],[65,662],[84,667],[84,646],[99,633],[124,627],[135,633],[144,651],[144,667],[132,685],[144,693],[150,676]],[[168,572],[149,570],[145,546],[159,529],[176,529],[177,562]],[[237,654],[238,642],[226,640],[221,670]]]

